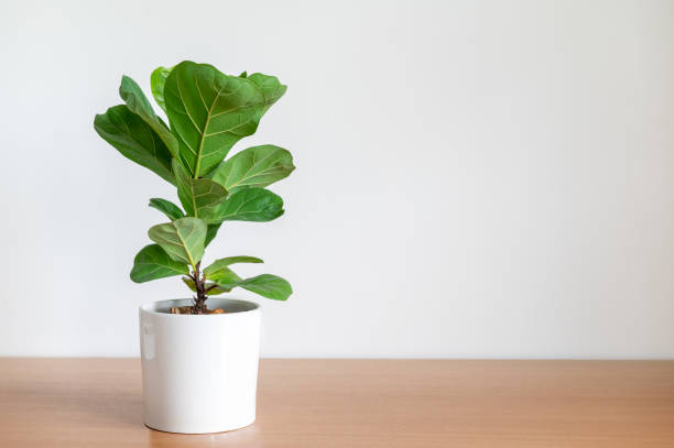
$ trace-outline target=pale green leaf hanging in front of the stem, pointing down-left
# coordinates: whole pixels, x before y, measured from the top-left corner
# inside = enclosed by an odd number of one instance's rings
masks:
[[[185,217],[173,222],[150,228],[148,236],[162,247],[172,260],[188,263],[193,267],[204,256],[206,222]]]

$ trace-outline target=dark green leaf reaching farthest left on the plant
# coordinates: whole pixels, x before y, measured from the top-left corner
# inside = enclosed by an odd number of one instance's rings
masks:
[[[171,151],[156,132],[124,105],[113,106],[94,119],[96,132],[124,157],[175,185]]]

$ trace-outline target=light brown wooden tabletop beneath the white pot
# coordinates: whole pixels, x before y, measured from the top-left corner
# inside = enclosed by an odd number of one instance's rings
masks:
[[[0,358],[0,447],[674,447],[674,361],[263,360],[258,420],[175,435],[135,359]]]

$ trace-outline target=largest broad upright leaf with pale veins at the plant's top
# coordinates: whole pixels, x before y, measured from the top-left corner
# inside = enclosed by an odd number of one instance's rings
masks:
[[[228,76],[207,64],[184,61],[164,85],[166,114],[192,177],[208,174],[231,146],[256,132],[262,114],[285,86],[274,77]],[[275,87],[274,87],[275,86]]]

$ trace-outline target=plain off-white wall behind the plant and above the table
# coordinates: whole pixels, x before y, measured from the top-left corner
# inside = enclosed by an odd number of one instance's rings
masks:
[[[286,215],[207,260],[292,281],[267,357],[674,357],[671,1],[3,1],[0,354],[135,356],[172,187],[98,138],[122,74],[273,74]],[[231,154],[233,154],[232,152]],[[239,297],[252,297],[238,294]]]

